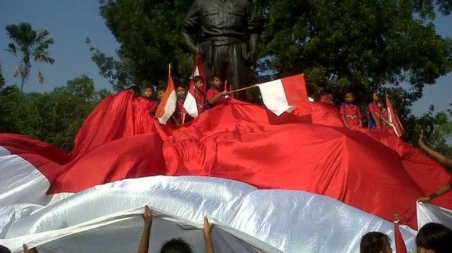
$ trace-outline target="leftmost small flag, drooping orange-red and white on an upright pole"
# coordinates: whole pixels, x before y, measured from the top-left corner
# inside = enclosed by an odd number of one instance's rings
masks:
[[[171,77],[171,71],[168,75],[168,87],[166,88],[165,94],[163,94],[162,101],[157,107],[155,113],[156,118],[159,119],[161,124],[166,124],[171,118],[172,113],[176,111],[177,96],[176,89],[174,88],[174,82]]]

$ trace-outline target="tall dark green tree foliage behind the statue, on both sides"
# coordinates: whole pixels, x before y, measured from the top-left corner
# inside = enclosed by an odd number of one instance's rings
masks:
[[[101,73],[113,69],[135,83],[165,82],[172,63],[174,75],[185,81],[192,58],[181,50],[179,31],[191,4],[100,0],[100,13],[121,45],[118,62],[105,55],[95,60]],[[253,5],[261,24],[257,80],[305,73],[311,96],[327,89],[341,102],[345,91],[354,91],[363,107],[372,91],[388,91],[410,126],[415,119],[410,106],[424,86],[451,71],[452,40],[437,35],[433,24],[435,11],[451,13],[451,1],[254,0]],[[257,93],[249,95],[258,101]]]

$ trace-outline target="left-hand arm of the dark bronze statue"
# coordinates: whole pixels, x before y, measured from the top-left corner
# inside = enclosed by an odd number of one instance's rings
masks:
[[[193,40],[192,33],[195,32],[200,26],[199,17],[199,1],[196,0],[188,13],[186,18],[183,19],[182,29],[181,29],[181,39],[182,44],[190,53],[196,53],[197,47],[195,41]]]

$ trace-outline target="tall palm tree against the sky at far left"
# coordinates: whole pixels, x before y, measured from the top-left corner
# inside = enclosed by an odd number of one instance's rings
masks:
[[[22,84],[20,91],[24,90],[24,84],[27,82],[28,77],[31,72],[31,62],[32,57],[36,62],[46,62],[53,64],[55,59],[50,57],[48,53],[48,46],[53,44],[53,39],[49,39],[48,31],[33,30],[30,24],[21,23],[19,25],[9,25],[6,26],[8,35],[13,43],[8,44],[8,50],[13,55],[17,56],[18,53],[21,55],[19,66],[15,68],[14,76],[21,75]],[[38,73],[39,82],[42,84],[44,82],[44,75],[39,71]]]

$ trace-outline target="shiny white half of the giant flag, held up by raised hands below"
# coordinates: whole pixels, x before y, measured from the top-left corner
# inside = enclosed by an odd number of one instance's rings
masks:
[[[0,244],[13,252],[23,243],[42,245],[39,252],[136,252],[143,229],[137,214],[144,205],[157,211],[152,247],[178,236],[195,250],[204,247],[199,229],[193,230],[204,216],[217,224],[216,252],[359,252],[361,236],[370,231],[395,241],[392,223],[305,191],[258,190],[223,178],[151,176],[49,197],[43,179],[24,181],[26,187],[8,180],[40,175],[29,163],[17,156],[1,159],[10,174],[1,174]],[[415,250],[414,235],[401,233]]]

